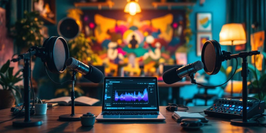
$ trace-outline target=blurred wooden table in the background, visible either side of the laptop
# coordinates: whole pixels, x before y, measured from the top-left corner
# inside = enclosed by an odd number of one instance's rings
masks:
[[[103,83],[93,83],[93,82],[77,82],[77,85],[84,86],[84,87],[98,87],[98,86],[103,86]],[[163,81],[158,81],[158,86],[159,87],[181,87],[185,85],[192,85],[190,81],[182,81],[182,82],[176,82],[174,84],[168,85],[165,84]]]

